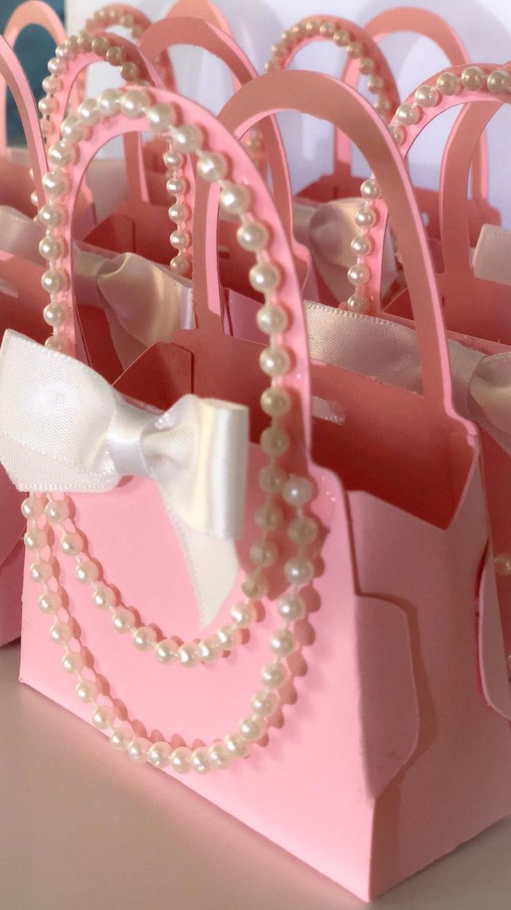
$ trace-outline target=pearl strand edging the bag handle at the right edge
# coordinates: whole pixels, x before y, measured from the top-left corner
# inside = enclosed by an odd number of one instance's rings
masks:
[[[511,74],[505,67],[489,73],[480,66],[466,66],[458,69],[459,72],[445,70],[434,77],[431,82],[419,86],[414,94],[397,108],[388,130],[396,146],[401,149],[403,157],[406,157],[427,112],[438,106],[444,96],[456,96],[457,105],[459,96],[463,96],[466,92],[476,92],[484,88],[490,94],[497,96],[511,92]],[[372,304],[366,294],[366,287],[372,277],[372,270],[367,260],[371,257],[375,246],[371,231],[379,219],[377,200],[381,196],[374,174],[362,183],[360,193],[363,200],[362,207],[356,211],[355,220],[361,230],[351,243],[351,248],[356,254],[356,264],[347,271],[347,278],[354,287],[354,293],[344,304],[346,309],[353,312],[367,312]]]

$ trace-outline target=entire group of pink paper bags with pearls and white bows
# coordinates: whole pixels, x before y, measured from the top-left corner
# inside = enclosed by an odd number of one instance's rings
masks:
[[[100,11],[49,62],[41,125],[0,42],[31,167],[4,147],[3,641],[23,582],[23,682],[369,899],[511,812],[511,332],[484,141],[511,69],[407,9],[296,23],[257,76],[191,7]],[[16,15],[11,42],[51,25]],[[377,45],[398,28],[451,60],[401,104]],[[283,71],[312,40],[346,47],[341,79]],[[175,90],[177,44],[232,70],[218,116]],[[87,98],[105,58],[123,85]],[[439,193],[416,191],[408,151],[454,107]],[[297,197],[283,111],[336,130]],[[117,136],[126,183],[94,167]]]

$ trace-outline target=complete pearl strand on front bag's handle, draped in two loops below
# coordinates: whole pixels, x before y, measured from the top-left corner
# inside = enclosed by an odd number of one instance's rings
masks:
[[[116,91],[116,90],[112,90]],[[290,477],[278,464],[278,459],[289,448],[290,440],[285,430],[279,426],[279,418],[292,407],[292,400],[284,385],[284,377],[290,369],[290,358],[282,342],[286,339],[288,315],[278,305],[276,291],[281,274],[276,263],[269,258],[266,248],[269,235],[266,226],[257,221],[250,212],[250,193],[244,184],[227,179],[228,162],[218,151],[207,151],[204,148],[204,134],[199,126],[175,126],[177,109],[173,105],[158,103],[153,105],[147,92],[140,89],[117,91],[118,107],[109,106],[108,112],[99,106],[98,101],[87,106],[86,123],[80,120],[81,126],[92,128],[103,117],[124,115],[131,119],[145,116],[147,126],[158,136],[167,136],[172,142],[182,147],[187,154],[197,158],[197,177],[218,183],[221,187],[220,205],[225,214],[240,218],[237,240],[241,247],[255,253],[255,265],[250,269],[252,286],[264,296],[264,304],[258,311],[257,324],[266,332],[269,345],[261,352],[259,363],[261,369],[271,379],[271,385],[261,396],[262,410],[271,418],[270,426],[261,434],[261,448],[268,456],[268,463],[259,474],[259,486],[266,493],[266,500],[255,512],[255,522],[262,531],[260,541],[251,547],[251,558],[255,571],[246,576],[242,585],[246,600],[236,604],[231,612],[233,623],[228,627],[228,634],[239,635],[245,622],[252,617],[254,602],[266,595],[267,579],[264,569],[275,563],[278,551],[275,541],[268,539],[268,533],[282,524],[283,513],[276,504],[276,496],[282,498],[294,509],[287,533],[296,544],[296,555],[289,558],[284,565],[284,575],[289,585],[277,602],[277,613],[282,625],[270,635],[272,659],[261,670],[263,687],[251,699],[250,713],[247,714],[233,733],[228,733],[223,740],[215,741],[209,747],[199,746],[193,751],[187,746],[173,749],[169,742],[151,743],[145,737],[135,736],[133,721],[129,726],[120,725],[115,716],[112,699],[107,699],[100,692],[95,680],[95,671],[85,666],[79,650],[71,647],[71,642],[80,646],[77,632],[69,611],[69,598],[65,591],[59,590],[58,557],[49,532],[48,523],[54,524],[61,531],[61,548],[76,560],[75,575],[77,581],[88,583],[93,589],[93,599],[100,609],[113,613],[118,631],[135,630],[135,622],[128,619],[130,613],[124,606],[115,602],[115,590],[104,581],[100,581],[100,569],[95,561],[85,554],[83,536],[70,523],[73,503],[70,498],[59,498],[52,494],[32,492],[23,502],[22,511],[28,522],[25,544],[35,553],[35,561],[29,569],[30,577],[41,584],[43,591],[39,598],[41,611],[52,619],[50,637],[52,641],[64,648],[63,668],[65,672],[75,675],[77,684],[76,696],[82,703],[92,705],[92,721],[95,727],[109,733],[110,742],[115,749],[125,751],[135,763],[149,761],[157,768],[170,766],[177,773],[195,770],[196,773],[208,773],[212,768],[223,769],[235,757],[242,758],[248,753],[250,744],[261,739],[266,732],[267,718],[271,717],[278,705],[278,689],[286,682],[288,670],[286,656],[296,649],[296,635],[290,626],[305,614],[305,604],[300,589],[311,583],[314,576],[314,565],[306,557],[307,547],[316,539],[316,521],[306,515],[304,507],[313,497],[311,481],[306,477]],[[95,110],[95,116],[90,116]],[[81,115],[78,114],[78,118]],[[185,131],[185,132],[183,132]],[[184,143],[184,136],[186,136]],[[50,304],[45,308],[45,321],[53,327],[53,334],[46,339],[46,346],[52,349],[71,353],[71,346],[66,329],[71,325],[73,314],[68,296],[69,276],[62,268],[65,256],[65,239],[60,228],[69,215],[65,197],[70,190],[70,179],[67,168],[71,167],[79,154],[79,143],[65,140],[66,164],[45,176],[45,190],[49,202],[40,210],[40,219],[46,228],[46,236],[41,241],[48,258],[49,268],[43,278],[43,287],[50,294]],[[184,148],[184,145],[186,148]],[[50,256],[51,251],[51,256]],[[50,308],[50,312],[48,312]],[[46,558],[49,551],[50,558]],[[56,569],[56,571],[55,571]],[[133,616],[133,613],[131,614]],[[184,666],[194,665],[190,660],[189,646],[180,654],[181,648],[175,649],[172,639],[156,642],[151,627],[138,627],[134,633],[135,645],[139,650],[154,647],[156,658],[160,662],[178,660]],[[222,642],[219,632],[212,651],[229,650]],[[231,639],[229,639],[229,642]],[[175,642],[176,643],[176,642]],[[199,658],[208,662],[209,645],[204,644],[204,652]],[[200,646],[200,645],[199,645]],[[195,651],[199,651],[195,646]],[[185,647],[185,646],[181,646]],[[185,656],[188,655],[188,656]],[[92,678],[91,678],[92,676]]]

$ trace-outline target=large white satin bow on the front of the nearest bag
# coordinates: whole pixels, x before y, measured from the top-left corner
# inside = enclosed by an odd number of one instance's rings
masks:
[[[103,492],[154,480],[194,585],[201,627],[238,572],[248,410],[185,395],[164,413],[17,332],[0,348],[0,461],[18,490]],[[172,602],[172,597],[169,598]]]

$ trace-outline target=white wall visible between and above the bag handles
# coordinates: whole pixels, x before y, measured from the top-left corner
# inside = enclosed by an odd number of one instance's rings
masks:
[[[168,11],[169,0],[131,0],[152,19]],[[243,47],[259,72],[264,71],[270,46],[284,28],[306,15],[335,14],[351,18],[360,25],[389,6],[388,0],[356,0],[351,4],[340,0],[216,0],[227,17],[236,41]],[[85,17],[100,3],[98,0],[67,0],[67,25],[70,34],[78,31]],[[405,5],[405,2],[403,3]],[[511,0],[426,0],[406,5],[417,6],[444,16],[461,36],[474,62],[505,63],[511,59]],[[401,96],[420,85],[427,76],[446,65],[443,54],[425,38],[415,35],[389,36],[382,43],[396,76]],[[212,110],[218,110],[229,96],[231,83],[227,71],[218,60],[195,48],[177,48],[172,52],[180,90]],[[293,66],[314,68],[338,76],[345,52],[322,42],[307,47]],[[111,82],[111,68],[94,67],[90,76],[90,92],[95,94],[105,81]],[[452,119],[452,118],[451,118]],[[279,118],[286,143],[290,170],[296,189],[329,170],[331,162],[331,132],[315,120],[297,115]],[[423,186],[435,187],[438,165],[449,117],[440,117],[421,136],[413,150],[412,176]],[[490,198],[502,208],[504,220],[511,226],[511,110],[503,110],[488,128],[490,147]],[[362,173],[363,162],[356,161],[356,173]]]

